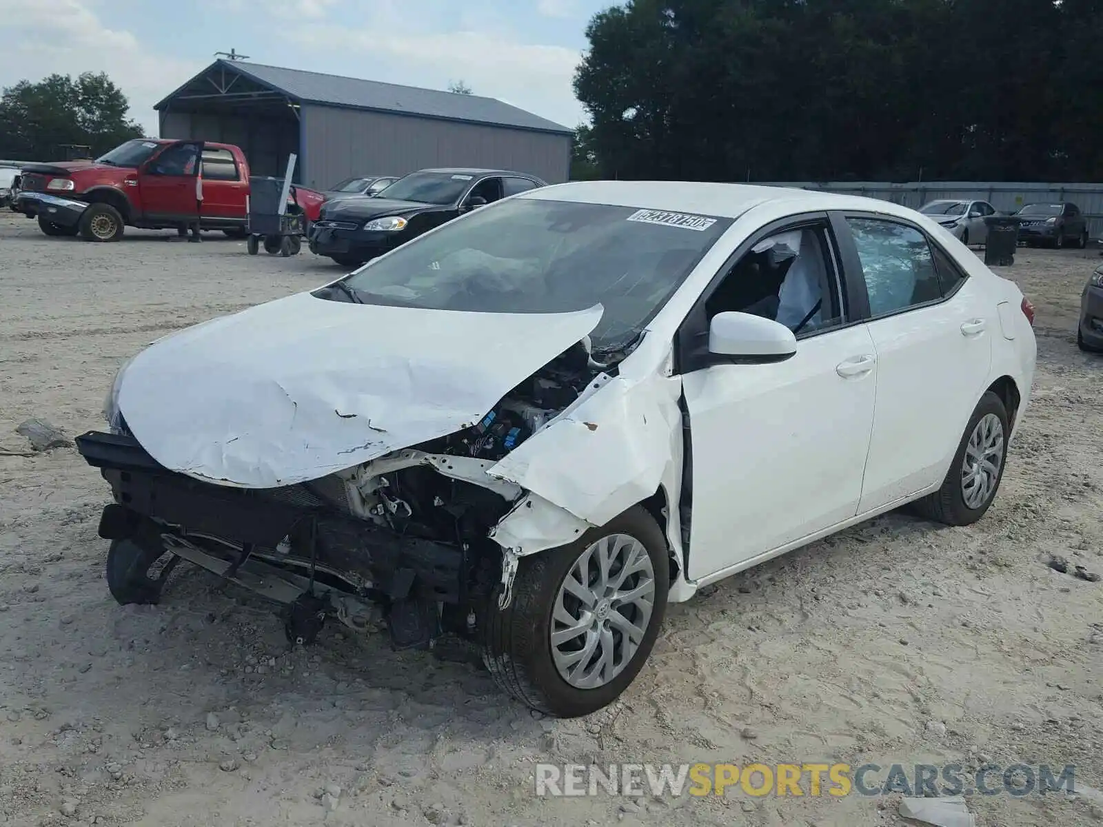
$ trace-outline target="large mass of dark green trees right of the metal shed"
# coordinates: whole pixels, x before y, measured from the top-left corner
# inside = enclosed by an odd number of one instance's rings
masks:
[[[1103,0],[628,0],[575,93],[602,176],[1103,174]]]

